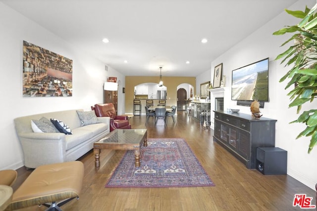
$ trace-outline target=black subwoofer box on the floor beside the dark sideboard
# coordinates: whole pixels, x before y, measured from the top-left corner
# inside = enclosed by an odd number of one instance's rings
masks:
[[[286,174],[287,151],[278,147],[258,147],[257,169],[267,175]]]

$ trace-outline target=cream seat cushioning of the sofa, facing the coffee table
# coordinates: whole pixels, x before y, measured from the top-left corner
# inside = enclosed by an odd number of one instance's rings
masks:
[[[72,135],[65,136],[66,151],[100,134],[101,132],[105,131],[107,127],[108,126],[106,124],[100,123],[73,129]]]

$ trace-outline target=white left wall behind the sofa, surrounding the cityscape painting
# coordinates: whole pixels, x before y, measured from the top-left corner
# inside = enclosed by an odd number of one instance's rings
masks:
[[[121,84],[125,84],[125,78],[111,68],[106,72],[105,64],[101,61],[64,42],[1,2],[0,32],[0,169],[17,169],[23,166],[23,153],[15,133],[14,118],[78,108],[89,111],[91,105],[103,102],[103,84],[108,76],[119,77]],[[23,40],[73,60],[72,97],[22,97]],[[120,93],[118,105],[124,105],[122,88]],[[120,109],[123,113],[124,107]]]

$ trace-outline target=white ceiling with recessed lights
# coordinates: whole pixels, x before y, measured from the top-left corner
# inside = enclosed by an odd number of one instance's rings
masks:
[[[125,76],[196,77],[296,0],[0,2]]]

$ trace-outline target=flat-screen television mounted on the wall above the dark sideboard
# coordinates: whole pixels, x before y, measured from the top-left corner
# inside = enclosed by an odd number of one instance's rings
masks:
[[[231,100],[268,102],[268,58],[232,71]]]

